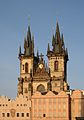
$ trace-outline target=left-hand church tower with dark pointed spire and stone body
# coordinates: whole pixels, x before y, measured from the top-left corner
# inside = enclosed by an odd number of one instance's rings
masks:
[[[20,77],[18,78],[18,95],[31,96],[31,76],[34,72],[34,37],[31,37],[28,26],[27,37],[24,39],[24,53],[19,48]]]

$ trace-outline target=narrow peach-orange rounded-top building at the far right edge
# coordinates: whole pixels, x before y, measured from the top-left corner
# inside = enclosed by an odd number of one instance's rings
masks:
[[[84,95],[82,91],[75,90],[71,95],[71,118],[84,117]]]

